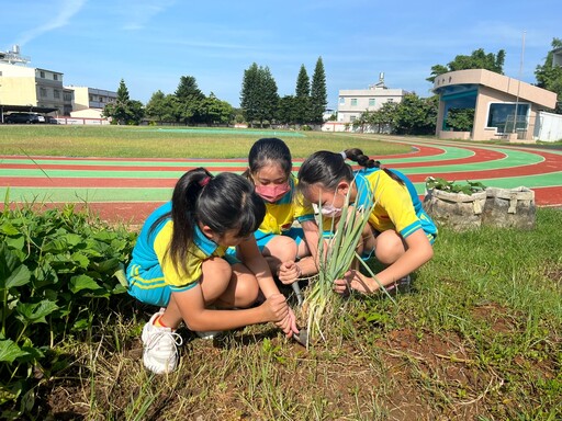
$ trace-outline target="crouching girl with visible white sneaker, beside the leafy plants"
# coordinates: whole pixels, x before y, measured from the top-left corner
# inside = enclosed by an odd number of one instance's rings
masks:
[[[176,368],[181,321],[198,333],[268,321],[286,335],[297,332],[254,238],[265,214],[263,201],[246,179],[213,177],[198,168],[183,174],[171,202],[147,218],[126,276],[132,296],[161,307],[143,328],[148,369],[159,374]],[[232,246],[241,262],[225,260]],[[266,300],[254,306],[260,294]]]

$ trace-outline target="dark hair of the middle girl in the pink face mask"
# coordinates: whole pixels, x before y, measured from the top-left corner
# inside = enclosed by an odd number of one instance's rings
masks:
[[[289,175],[293,169],[291,151],[285,143],[277,137],[265,137],[257,140],[248,153],[248,170],[244,177],[251,179],[250,174],[257,173],[270,163],[277,163]]]

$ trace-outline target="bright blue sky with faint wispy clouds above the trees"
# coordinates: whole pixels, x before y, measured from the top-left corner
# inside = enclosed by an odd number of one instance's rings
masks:
[[[535,83],[562,38],[560,0],[0,0],[0,50],[19,45],[27,66],[63,72],[65,86],[116,91],[123,79],[143,103],[192,76],[238,106],[254,62],[281,96],[294,94],[301,66],[312,79],[318,57],[330,109],[340,89],[367,89],[381,72],[387,88],[429,96],[431,66],[477,48],[504,49],[504,73]]]

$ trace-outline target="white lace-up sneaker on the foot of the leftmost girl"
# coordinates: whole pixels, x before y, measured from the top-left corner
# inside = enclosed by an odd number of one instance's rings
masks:
[[[178,346],[183,343],[181,337],[170,328],[154,325],[154,320],[164,311],[156,312],[143,328],[143,363],[156,374],[170,373],[178,365]]]

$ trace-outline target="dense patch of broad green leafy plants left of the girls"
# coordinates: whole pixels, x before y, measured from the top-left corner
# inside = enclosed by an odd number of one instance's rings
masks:
[[[35,207],[4,206],[0,214],[2,418],[33,408],[35,386],[68,365],[55,344],[91,328],[110,298],[125,292],[120,262],[134,242],[125,229],[74,205],[43,213]]]

